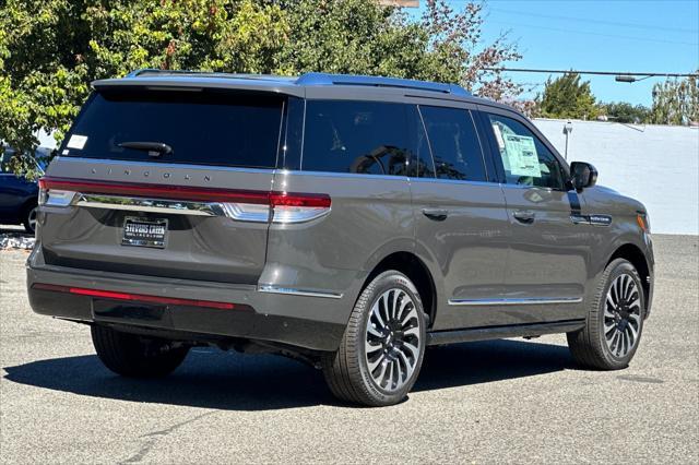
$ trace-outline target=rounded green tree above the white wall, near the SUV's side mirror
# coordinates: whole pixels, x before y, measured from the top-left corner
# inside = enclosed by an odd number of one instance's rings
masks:
[[[544,118],[594,119],[600,108],[590,90],[590,81],[566,73],[546,81],[543,95],[536,96],[538,115]]]

